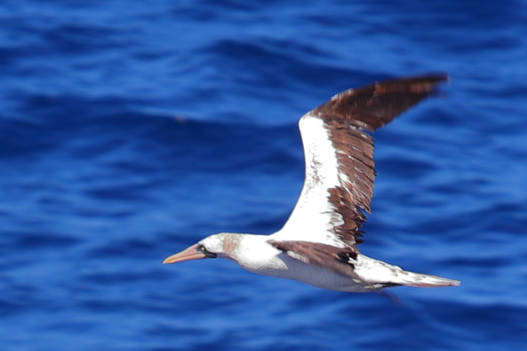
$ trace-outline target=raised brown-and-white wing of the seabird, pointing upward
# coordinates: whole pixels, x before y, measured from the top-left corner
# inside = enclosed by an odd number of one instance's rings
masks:
[[[446,75],[394,79],[335,95],[298,123],[304,146],[304,186],[280,240],[337,247],[362,242],[375,180],[374,132],[432,94]]]

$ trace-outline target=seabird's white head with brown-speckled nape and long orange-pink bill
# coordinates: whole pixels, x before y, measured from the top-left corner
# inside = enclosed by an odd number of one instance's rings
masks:
[[[165,258],[164,264],[176,263],[198,258],[229,257],[238,246],[239,235],[232,233],[219,233],[201,239],[183,251]]]

